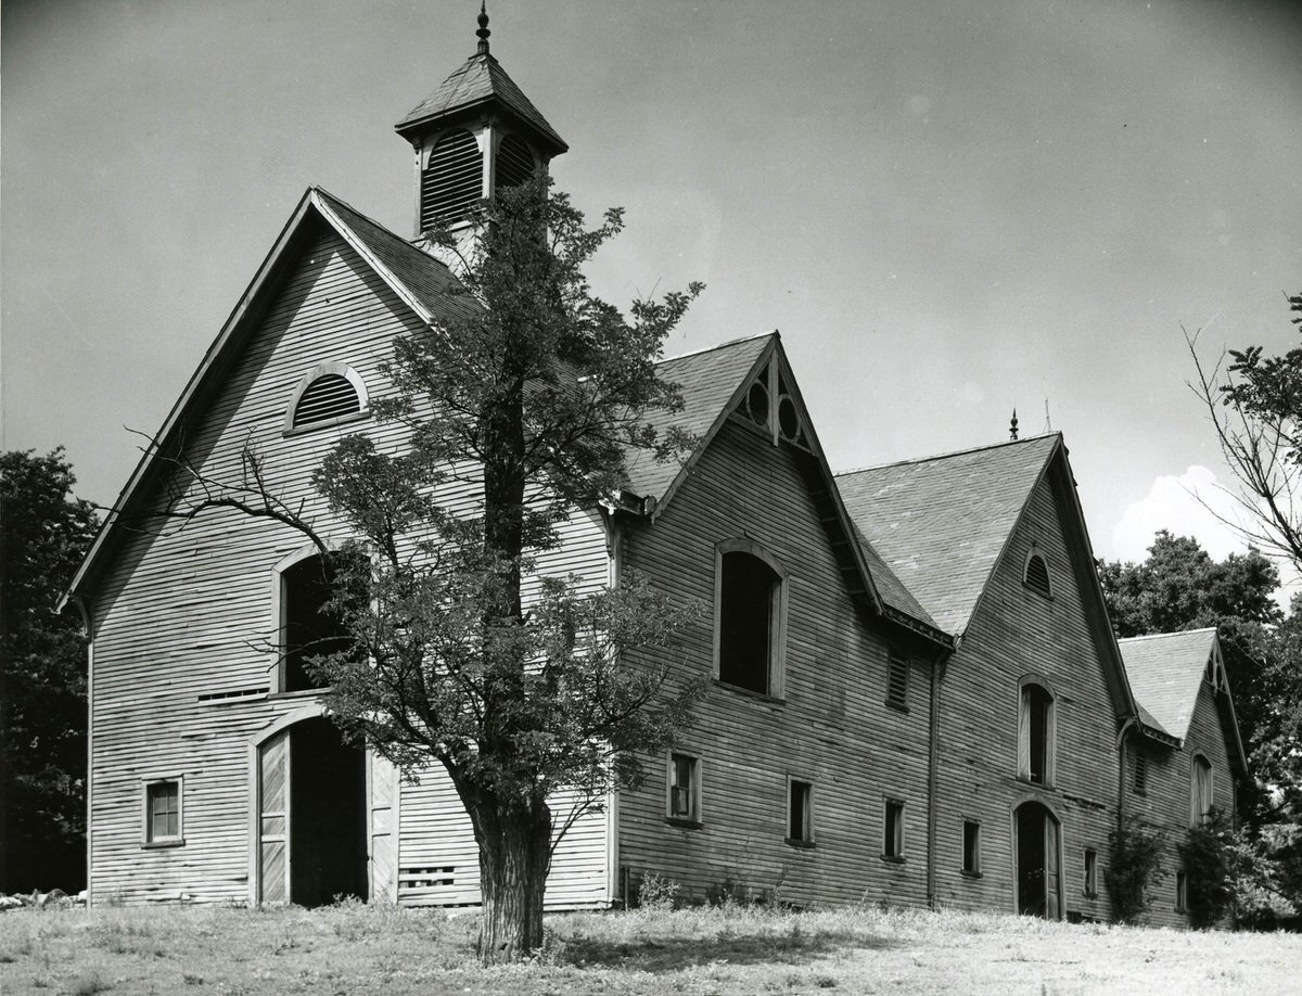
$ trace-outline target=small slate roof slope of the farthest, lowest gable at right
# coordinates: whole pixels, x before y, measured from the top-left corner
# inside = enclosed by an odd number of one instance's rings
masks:
[[[1117,641],[1139,719],[1172,737],[1187,736],[1215,641],[1215,628]]]

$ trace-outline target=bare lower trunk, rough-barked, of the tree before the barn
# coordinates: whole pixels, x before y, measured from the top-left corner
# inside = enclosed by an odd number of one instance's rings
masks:
[[[543,947],[543,889],[551,862],[551,810],[484,803],[479,807],[479,961],[516,961]]]

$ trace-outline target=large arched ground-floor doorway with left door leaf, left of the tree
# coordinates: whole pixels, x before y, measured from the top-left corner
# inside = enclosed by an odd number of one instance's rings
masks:
[[[258,898],[322,906],[368,898],[366,754],[324,717],[259,747]]]

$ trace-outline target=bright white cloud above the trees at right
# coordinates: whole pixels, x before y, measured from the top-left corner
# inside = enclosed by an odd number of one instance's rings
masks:
[[[1152,538],[1161,529],[1177,536],[1194,536],[1213,560],[1242,553],[1247,543],[1221,521],[1240,522],[1241,509],[1223,487],[1203,466],[1191,466],[1178,478],[1157,478],[1143,499],[1130,503],[1112,530],[1112,555],[1124,561],[1146,560]]]

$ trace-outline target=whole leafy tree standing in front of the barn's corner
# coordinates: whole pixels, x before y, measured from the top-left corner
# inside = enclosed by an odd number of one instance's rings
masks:
[[[296,512],[301,496],[279,493],[254,452],[233,486],[189,469],[173,497],[194,483],[203,497],[168,512],[271,517],[331,557],[329,608],[352,646],[309,667],[348,737],[409,771],[448,772],[479,848],[486,962],[542,945],[559,837],[612,788],[641,781],[638,753],[671,742],[702,687],[667,685],[667,671],[637,660],[695,607],[637,579],[583,594],[573,578],[538,577],[560,522],[613,509],[626,450],[672,458],[690,444],[659,436],[646,413],[682,405],[655,361],[702,289],[637,301],[628,318],[594,297],[582,270],[622,228],[620,211],[586,228],[548,186],[499,191],[473,240],[430,233],[458,260],[464,292],[458,319],[396,341],[384,368],[395,392],[372,411],[406,445],[348,436],[312,479],[349,543],[328,549]]]

